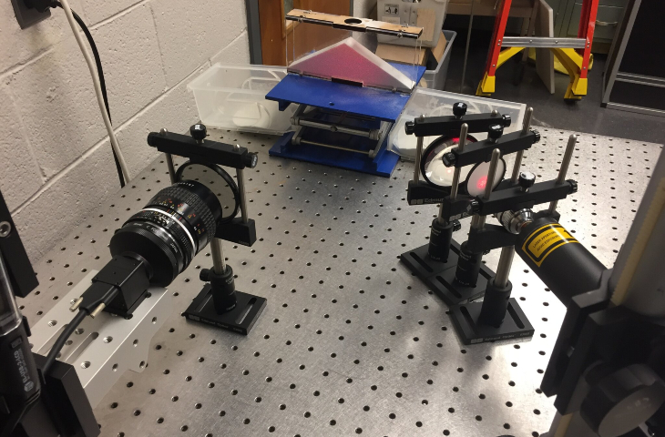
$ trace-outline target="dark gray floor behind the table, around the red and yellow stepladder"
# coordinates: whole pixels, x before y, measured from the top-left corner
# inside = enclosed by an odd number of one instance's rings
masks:
[[[453,46],[445,90],[458,93],[462,80],[466,29],[453,30],[457,32],[457,38]],[[476,86],[485,68],[489,39],[490,34],[486,31],[474,31],[471,36],[465,94],[476,93]],[[536,66],[529,64],[521,85],[514,86],[512,77],[515,64],[510,60],[496,72],[496,93],[493,97],[534,107],[535,124],[540,126],[665,143],[663,128],[665,118],[600,107],[605,63],[606,56],[596,56],[595,64],[588,76],[588,96],[577,103],[567,104],[563,99],[568,86],[567,75],[556,75],[556,91],[554,94],[549,94],[536,74]]]

